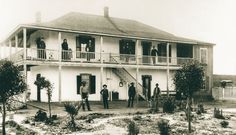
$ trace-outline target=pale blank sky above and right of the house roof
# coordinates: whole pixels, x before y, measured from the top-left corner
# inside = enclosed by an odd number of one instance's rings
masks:
[[[176,36],[216,44],[214,74],[236,75],[236,0],[0,0],[0,41],[18,24],[69,12],[133,19]]]

